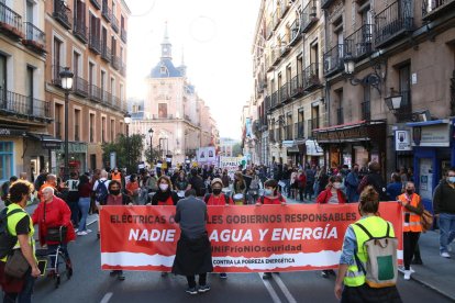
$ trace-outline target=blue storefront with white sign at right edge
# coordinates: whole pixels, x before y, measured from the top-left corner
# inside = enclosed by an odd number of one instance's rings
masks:
[[[412,128],[415,188],[425,209],[432,210],[433,191],[455,166],[455,119],[407,123]]]

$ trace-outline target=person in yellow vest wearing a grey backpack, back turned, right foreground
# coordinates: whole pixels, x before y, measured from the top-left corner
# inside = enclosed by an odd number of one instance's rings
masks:
[[[379,194],[368,186],[359,197],[362,218],[344,236],[334,288],[341,302],[402,302],[396,287],[398,240],[392,224],[378,215],[378,209]],[[379,256],[385,260],[381,263]]]

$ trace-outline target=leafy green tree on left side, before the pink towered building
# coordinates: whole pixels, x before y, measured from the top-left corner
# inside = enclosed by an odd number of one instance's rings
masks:
[[[126,168],[129,173],[137,171],[137,164],[141,160],[144,135],[134,134],[129,137],[120,135],[114,143],[103,143],[102,160],[104,164],[110,162],[110,154],[116,154],[116,167]],[[113,167],[111,167],[113,168]]]

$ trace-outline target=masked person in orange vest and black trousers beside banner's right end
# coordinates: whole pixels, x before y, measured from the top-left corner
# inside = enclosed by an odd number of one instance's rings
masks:
[[[403,261],[404,261],[404,280],[411,279],[411,260],[414,256],[415,246],[418,245],[422,225],[420,217],[423,213],[423,203],[419,194],[415,193],[414,183],[406,183],[404,193],[398,197],[398,202],[403,205]]]

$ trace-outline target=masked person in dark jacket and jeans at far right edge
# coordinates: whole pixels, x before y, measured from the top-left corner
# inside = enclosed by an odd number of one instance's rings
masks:
[[[447,178],[434,190],[433,211],[440,225],[441,257],[451,258],[451,243],[455,239],[455,167],[448,169]]]

